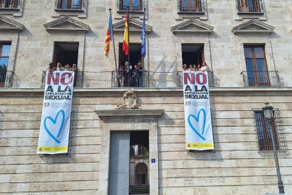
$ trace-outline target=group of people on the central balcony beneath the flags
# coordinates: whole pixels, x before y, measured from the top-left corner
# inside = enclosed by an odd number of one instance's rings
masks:
[[[125,66],[118,68],[118,86],[120,87],[142,87],[143,86],[143,68],[139,62],[135,64],[134,69],[129,62]]]

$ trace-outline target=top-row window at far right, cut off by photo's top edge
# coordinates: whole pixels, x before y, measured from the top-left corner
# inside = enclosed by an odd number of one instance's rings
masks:
[[[236,0],[238,13],[262,13],[262,0]]]

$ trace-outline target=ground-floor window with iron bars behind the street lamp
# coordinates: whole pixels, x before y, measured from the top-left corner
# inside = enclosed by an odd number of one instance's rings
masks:
[[[264,118],[264,112],[260,109],[253,110],[255,115],[255,127],[257,130],[257,141],[259,143],[260,150],[272,150],[272,138],[271,131],[274,134],[276,148],[279,150],[279,136],[276,126],[276,117],[272,120],[272,125],[269,127],[269,123]],[[277,116],[274,110],[274,115]],[[272,129],[271,129],[272,128]]]

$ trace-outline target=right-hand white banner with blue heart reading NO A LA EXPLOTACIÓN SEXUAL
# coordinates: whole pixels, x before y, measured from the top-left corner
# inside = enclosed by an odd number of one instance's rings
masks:
[[[183,95],[186,148],[214,149],[207,71],[183,71]]]

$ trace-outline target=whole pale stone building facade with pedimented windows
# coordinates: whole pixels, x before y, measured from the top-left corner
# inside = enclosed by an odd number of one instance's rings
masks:
[[[292,194],[292,2],[130,2],[130,54],[143,64],[143,87],[116,83],[113,49],[117,66],[126,60],[121,51],[126,1],[1,1],[0,57],[7,69],[0,70],[0,193],[107,194],[110,135],[120,131],[149,133],[150,194],[277,193],[274,158],[271,148],[261,148],[256,119],[269,102],[277,113],[284,189]],[[109,8],[115,48],[111,45],[107,58]],[[185,150],[181,70],[192,59],[210,68],[214,151]],[[69,152],[39,156],[43,71],[60,60],[78,64],[80,71]],[[128,90],[140,106],[115,110]]]

